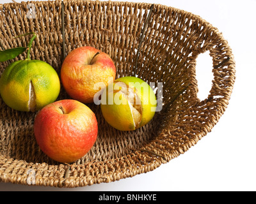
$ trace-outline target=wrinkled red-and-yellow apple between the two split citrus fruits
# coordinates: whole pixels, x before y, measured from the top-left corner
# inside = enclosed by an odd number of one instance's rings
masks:
[[[61,82],[65,91],[82,103],[92,103],[94,95],[115,77],[116,68],[111,57],[93,47],[76,48],[61,66]]]

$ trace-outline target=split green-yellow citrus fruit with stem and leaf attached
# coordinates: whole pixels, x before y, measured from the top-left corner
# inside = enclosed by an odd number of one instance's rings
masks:
[[[0,93],[11,108],[35,112],[58,98],[60,79],[54,68],[44,61],[15,61],[1,75]]]

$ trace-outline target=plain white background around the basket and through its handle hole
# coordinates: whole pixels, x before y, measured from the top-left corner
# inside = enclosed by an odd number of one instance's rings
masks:
[[[120,0],[121,1],[121,0]],[[129,1],[129,0],[127,0]],[[130,0],[131,1],[131,0]],[[10,3],[11,0],[0,0]],[[21,2],[17,0],[16,2]],[[224,115],[194,147],[154,171],[108,184],[76,187],[1,183],[0,191],[255,191],[256,190],[256,41],[255,0],[145,0],[200,15],[223,33],[236,60],[236,83]],[[1,23],[1,22],[0,22]],[[211,88],[209,55],[198,59],[198,97]]]

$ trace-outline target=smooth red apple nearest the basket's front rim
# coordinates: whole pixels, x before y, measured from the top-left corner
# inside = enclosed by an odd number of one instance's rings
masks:
[[[83,103],[64,99],[51,103],[36,115],[36,142],[55,161],[71,163],[92,149],[98,133],[95,114]]]

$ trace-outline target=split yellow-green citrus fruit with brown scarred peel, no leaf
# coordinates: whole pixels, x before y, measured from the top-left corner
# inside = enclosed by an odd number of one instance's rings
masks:
[[[118,78],[101,95],[104,119],[121,131],[132,131],[147,124],[154,117],[156,106],[153,89],[137,77]]]

